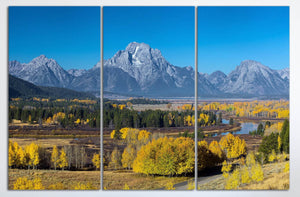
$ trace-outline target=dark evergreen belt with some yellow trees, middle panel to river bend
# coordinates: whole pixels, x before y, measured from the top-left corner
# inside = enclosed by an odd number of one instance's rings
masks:
[[[195,122],[199,126],[216,125],[222,122],[222,116],[217,117],[214,112],[199,111],[196,121],[194,111],[191,109],[183,111],[145,110],[140,112],[125,107],[117,107],[111,103],[105,103],[103,110],[104,127],[116,130],[123,127],[185,127],[193,126]]]

